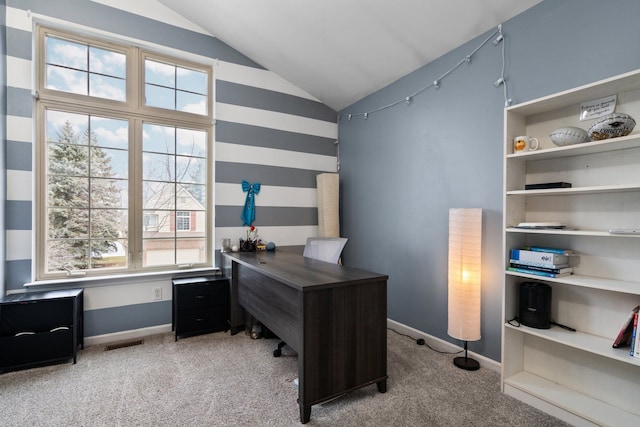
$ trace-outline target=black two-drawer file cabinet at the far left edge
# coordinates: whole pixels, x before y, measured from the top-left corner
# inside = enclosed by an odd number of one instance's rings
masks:
[[[82,289],[0,298],[0,372],[73,359],[84,346]]]

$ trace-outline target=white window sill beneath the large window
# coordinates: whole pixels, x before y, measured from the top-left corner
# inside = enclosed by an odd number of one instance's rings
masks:
[[[194,268],[191,270],[154,271],[150,273],[119,274],[97,277],[65,277],[62,279],[38,280],[23,285],[25,288],[51,287],[51,288],[78,288],[90,286],[123,285],[127,283],[154,282],[158,280],[170,280],[175,278],[192,277],[200,275],[222,275],[218,267]]]

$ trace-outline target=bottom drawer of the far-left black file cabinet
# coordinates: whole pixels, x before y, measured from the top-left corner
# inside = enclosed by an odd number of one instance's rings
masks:
[[[73,328],[0,337],[0,369],[73,358]]]

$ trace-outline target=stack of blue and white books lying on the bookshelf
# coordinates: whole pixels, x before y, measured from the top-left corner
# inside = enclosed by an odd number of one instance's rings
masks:
[[[543,277],[564,277],[573,274],[569,266],[570,249],[524,246],[511,249],[507,270]]]

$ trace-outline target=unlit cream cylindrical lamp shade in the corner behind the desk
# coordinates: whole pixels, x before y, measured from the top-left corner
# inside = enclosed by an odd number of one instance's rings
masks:
[[[337,173],[316,175],[318,237],[340,237],[340,182]]]

